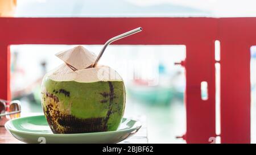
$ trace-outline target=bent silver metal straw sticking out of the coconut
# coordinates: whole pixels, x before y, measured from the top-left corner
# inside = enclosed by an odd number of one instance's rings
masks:
[[[118,35],[118,36],[115,36],[115,37],[112,37],[112,39],[109,39],[108,41],[106,41],[104,47],[101,49],[101,52],[100,54],[98,55],[96,61],[94,62],[93,64],[93,68],[97,65],[98,61],[101,59],[101,56],[103,55],[106,47],[108,47],[109,44],[113,43],[114,41],[117,41],[119,39],[122,39],[124,37],[127,37],[127,36],[130,36],[130,35],[133,35],[135,33],[138,33],[138,32],[141,32],[142,31],[142,28],[141,27],[138,27],[138,28],[135,28],[134,30],[131,30],[129,32],[125,32],[125,33],[122,33],[121,35]]]

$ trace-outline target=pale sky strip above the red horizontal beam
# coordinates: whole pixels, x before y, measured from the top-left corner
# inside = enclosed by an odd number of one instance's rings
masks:
[[[18,0],[15,16],[256,16],[253,0]]]

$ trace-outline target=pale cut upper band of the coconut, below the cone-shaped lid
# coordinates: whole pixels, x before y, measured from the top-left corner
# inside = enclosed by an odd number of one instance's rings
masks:
[[[73,71],[67,64],[62,64],[52,72],[46,74],[53,81],[122,81],[122,77],[109,66],[98,65],[95,68],[87,68]]]

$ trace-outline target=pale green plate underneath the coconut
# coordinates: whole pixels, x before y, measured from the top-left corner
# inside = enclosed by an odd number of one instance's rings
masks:
[[[9,120],[5,128],[16,139],[24,143],[118,143],[141,128],[141,123],[122,119],[117,131],[53,134],[44,115]]]

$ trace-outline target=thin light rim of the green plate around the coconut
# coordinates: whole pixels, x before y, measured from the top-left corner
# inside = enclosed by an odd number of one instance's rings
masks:
[[[33,115],[33,116],[26,116],[22,118],[15,118],[8,120],[5,123],[5,129],[9,132],[16,132],[16,133],[22,133],[22,134],[30,134],[30,135],[45,135],[45,136],[55,136],[55,137],[65,137],[65,136],[82,136],[82,135],[100,135],[101,133],[121,133],[121,132],[133,132],[135,130],[139,130],[142,127],[142,123],[139,120],[134,120],[134,119],[129,119],[135,121],[135,124],[137,124],[133,128],[129,129],[122,129],[122,130],[116,130],[116,131],[102,131],[102,132],[88,132],[88,133],[35,133],[35,132],[28,132],[28,131],[19,131],[18,129],[12,129],[8,126],[12,121],[17,120],[17,119],[26,119],[26,118],[32,118],[32,117],[39,117],[39,116],[44,116],[44,115]],[[127,119],[127,118],[122,118],[122,119]]]

